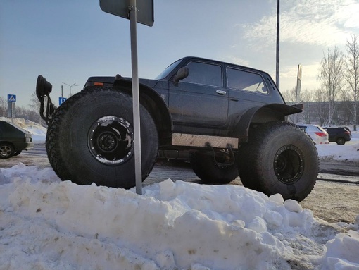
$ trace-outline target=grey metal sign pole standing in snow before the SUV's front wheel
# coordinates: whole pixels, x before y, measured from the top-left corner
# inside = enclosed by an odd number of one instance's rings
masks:
[[[130,0],[130,32],[132,61],[132,102],[134,125],[134,174],[136,193],[142,195],[141,128],[139,120],[139,74],[137,60],[137,8],[136,0]]]

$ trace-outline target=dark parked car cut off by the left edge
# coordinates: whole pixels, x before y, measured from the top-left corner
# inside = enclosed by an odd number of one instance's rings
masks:
[[[32,147],[34,142],[30,133],[12,123],[0,121],[0,159],[17,156]]]

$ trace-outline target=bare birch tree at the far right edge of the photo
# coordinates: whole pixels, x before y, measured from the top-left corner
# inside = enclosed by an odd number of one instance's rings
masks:
[[[359,45],[357,35],[351,35],[351,40],[346,41],[346,51],[346,74],[344,76],[346,82],[348,82],[346,97],[353,104],[353,125],[354,131],[356,131],[359,99]]]

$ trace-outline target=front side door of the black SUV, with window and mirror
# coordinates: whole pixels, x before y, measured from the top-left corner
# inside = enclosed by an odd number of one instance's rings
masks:
[[[169,82],[169,108],[175,132],[181,126],[222,127],[227,122],[228,94],[221,63],[192,59],[187,78]]]

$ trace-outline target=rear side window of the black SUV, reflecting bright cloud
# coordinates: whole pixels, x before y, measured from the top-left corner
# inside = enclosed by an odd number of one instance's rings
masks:
[[[244,70],[227,68],[227,84],[234,90],[268,94],[262,76]]]

